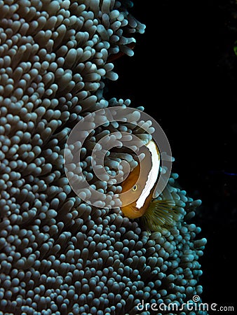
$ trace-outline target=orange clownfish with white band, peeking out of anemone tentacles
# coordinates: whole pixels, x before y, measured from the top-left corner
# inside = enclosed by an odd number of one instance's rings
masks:
[[[128,218],[141,218],[142,223],[152,231],[175,225],[178,214],[174,200],[155,200],[154,190],[160,175],[161,155],[156,143],[151,140],[142,147],[143,160],[121,183],[121,211]],[[135,200],[129,203],[130,200]]]

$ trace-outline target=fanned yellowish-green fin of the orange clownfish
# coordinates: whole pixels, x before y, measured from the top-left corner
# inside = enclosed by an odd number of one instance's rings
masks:
[[[179,219],[175,200],[153,200],[140,219],[147,229],[154,232],[171,228]]]

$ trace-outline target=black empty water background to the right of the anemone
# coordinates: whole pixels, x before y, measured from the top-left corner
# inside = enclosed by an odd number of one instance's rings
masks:
[[[147,28],[135,36],[135,55],[114,62],[119,78],[108,94],[158,121],[175,157],[172,172],[203,201],[194,219],[208,239],[199,283],[203,302],[219,305],[236,302],[235,10],[230,0],[134,0],[130,11]]]

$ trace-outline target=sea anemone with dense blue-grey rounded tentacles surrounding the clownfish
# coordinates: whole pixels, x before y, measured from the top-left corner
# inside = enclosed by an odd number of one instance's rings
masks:
[[[74,126],[98,109],[130,106],[103,92],[107,80],[118,78],[113,58],[132,56],[133,35],[144,32],[131,6],[126,0],[0,1],[0,314],[153,314],[137,304],[182,305],[202,293],[198,259],[206,239],[196,238],[201,228],[193,220],[201,201],[187,196],[177,174],[159,198],[175,201],[179,220],[156,232],[119,208],[86,204],[65,176]],[[95,179],[90,155],[114,130],[147,139],[139,128],[111,123],[83,144],[83,175],[111,194],[121,186]],[[111,152],[107,172],[116,174],[123,158],[135,167],[133,154]]]

